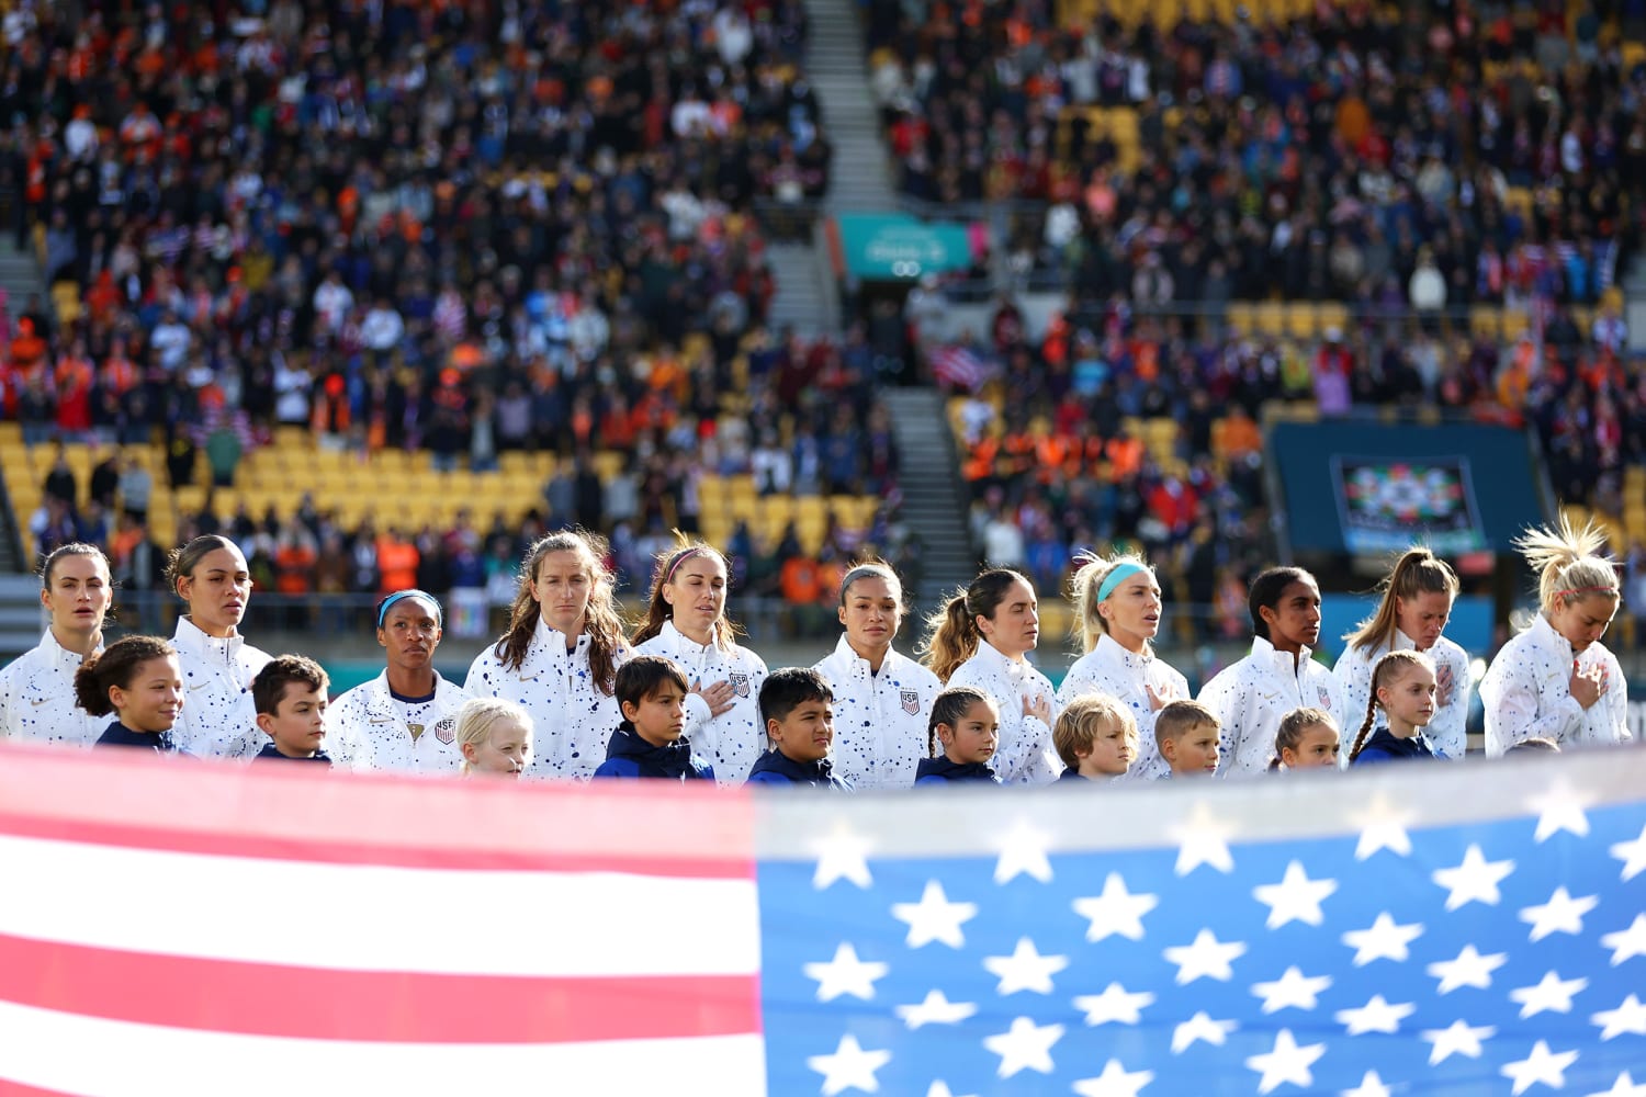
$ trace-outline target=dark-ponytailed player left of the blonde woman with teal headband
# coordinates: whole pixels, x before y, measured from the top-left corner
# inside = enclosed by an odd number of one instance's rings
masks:
[[[991,567],[927,618],[927,666],[948,687],[974,686],[999,711],[994,773],[1006,785],[1057,780],[1052,683],[1025,658],[1040,643],[1040,604],[1029,581]]]

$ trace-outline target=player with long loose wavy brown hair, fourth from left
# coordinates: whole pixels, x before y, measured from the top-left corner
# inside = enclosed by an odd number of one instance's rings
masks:
[[[520,566],[509,630],[469,666],[464,692],[522,706],[540,729],[527,778],[588,781],[622,714],[614,683],[629,658],[604,538],[538,538]]]

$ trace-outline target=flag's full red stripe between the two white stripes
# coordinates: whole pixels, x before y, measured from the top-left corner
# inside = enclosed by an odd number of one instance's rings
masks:
[[[255,911],[268,933],[321,918]],[[110,911],[110,918],[117,918]],[[303,928],[303,923],[309,928]],[[528,919],[446,933],[527,933]],[[690,946],[681,946],[690,947]],[[760,1031],[754,975],[512,979],[120,952],[0,934],[0,1000],[166,1028],[364,1043],[545,1044]]]

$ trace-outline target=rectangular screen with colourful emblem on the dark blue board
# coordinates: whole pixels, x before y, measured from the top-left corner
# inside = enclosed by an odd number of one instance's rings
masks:
[[[1388,553],[1420,541],[1437,553],[1486,548],[1467,457],[1332,459],[1343,523],[1351,553]]]

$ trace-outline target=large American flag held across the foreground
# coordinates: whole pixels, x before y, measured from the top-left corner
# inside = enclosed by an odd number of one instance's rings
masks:
[[[614,785],[0,753],[0,1094],[1646,1097],[1639,752]]]

